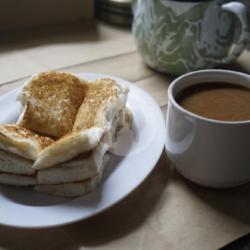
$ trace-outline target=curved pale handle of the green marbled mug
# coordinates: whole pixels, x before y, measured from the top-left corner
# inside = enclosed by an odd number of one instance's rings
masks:
[[[221,8],[225,11],[233,13],[239,19],[241,24],[241,34],[239,40],[235,42],[231,52],[229,52],[225,58],[216,60],[218,64],[227,64],[236,60],[247,44],[250,43],[250,27],[248,27],[247,23],[247,8],[243,3],[229,2],[221,5]]]

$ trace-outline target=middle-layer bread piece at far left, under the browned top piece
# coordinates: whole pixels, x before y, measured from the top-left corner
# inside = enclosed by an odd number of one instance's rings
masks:
[[[33,162],[13,153],[0,150],[0,172],[34,175],[35,170],[31,168]]]

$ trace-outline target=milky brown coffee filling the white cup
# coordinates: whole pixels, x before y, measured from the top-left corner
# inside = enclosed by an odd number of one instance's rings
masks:
[[[176,97],[184,109],[221,121],[250,120],[250,89],[226,82],[197,83]]]

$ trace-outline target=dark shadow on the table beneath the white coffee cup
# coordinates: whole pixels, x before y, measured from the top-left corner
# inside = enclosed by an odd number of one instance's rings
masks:
[[[183,185],[214,209],[250,225],[250,183],[234,188],[201,187],[178,175]]]

